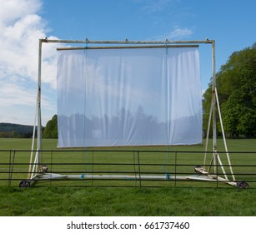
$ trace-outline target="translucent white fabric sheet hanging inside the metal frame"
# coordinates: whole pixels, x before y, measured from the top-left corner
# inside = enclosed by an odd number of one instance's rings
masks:
[[[58,147],[202,142],[198,47],[58,50]]]

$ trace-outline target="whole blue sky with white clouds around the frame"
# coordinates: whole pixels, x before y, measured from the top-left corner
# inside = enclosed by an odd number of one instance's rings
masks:
[[[216,70],[256,42],[254,0],[0,0],[0,122],[33,124],[38,39],[216,41]],[[55,47],[43,47],[43,125],[56,114]],[[211,47],[200,46],[202,89]]]

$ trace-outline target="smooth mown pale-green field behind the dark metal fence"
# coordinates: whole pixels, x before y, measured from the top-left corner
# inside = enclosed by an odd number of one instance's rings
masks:
[[[0,150],[2,151],[0,162],[13,162],[12,186],[18,186],[19,181],[27,179],[29,150],[31,140],[26,139],[0,139]],[[56,140],[43,140],[43,149],[48,150],[42,153],[43,164],[48,164],[49,171],[58,174],[75,174],[78,177],[83,174],[96,172],[96,174],[106,174],[119,172],[122,174],[134,174],[140,171],[141,174],[173,174],[181,176],[190,176],[194,174],[194,166],[203,164],[203,145],[196,146],[158,146],[158,147],[115,147],[115,148],[90,148],[90,151],[63,151],[56,150]],[[211,150],[211,145],[208,147]],[[94,149],[94,150],[93,150]],[[106,151],[97,151],[97,150]],[[251,187],[256,187],[256,140],[228,140],[228,149],[233,164],[233,171],[236,173],[238,181],[250,181]],[[51,151],[53,150],[53,151]],[[126,150],[126,151],[123,151]],[[153,151],[154,152],[153,152]],[[138,153],[139,151],[139,153]],[[224,151],[223,141],[218,140],[218,151]],[[233,153],[238,151],[239,153]],[[250,151],[251,153],[246,153]],[[208,153],[206,165],[210,163],[212,154]],[[220,152],[223,165],[228,170],[228,161],[226,155]],[[18,163],[27,163],[17,165]],[[52,166],[51,164],[54,163]],[[58,165],[58,163],[64,163]],[[70,165],[70,163],[80,163]],[[87,163],[87,165],[85,165]],[[90,163],[90,165],[88,165]],[[123,165],[110,165],[110,163],[123,163]],[[140,166],[138,166],[138,163]],[[93,165],[92,165],[93,164]],[[167,166],[169,165],[170,166]],[[173,166],[173,165],[178,166]],[[249,166],[241,166],[249,165]],[[9,166],[2,166],[2,171],[9,171]],[[212,168],[213,171],[213,168]],[[19,173],[20,172],[20,173]],[[218,174],[222,171],[218,167]],[[95,174],[95,173],[94,173]],[[249,175],[244,175],[249,174]],[[0,185],[8,184],[8,172],[1,173]],[[231,176],[228,175],[230,179]],[[220,182],[186,182],[186,181],[84,181],[78,178],[78,181],[54,181],[39,182],[41,186],[223,186]]]

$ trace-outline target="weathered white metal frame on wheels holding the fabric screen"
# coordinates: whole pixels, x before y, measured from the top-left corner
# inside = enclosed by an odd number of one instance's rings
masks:
[[[51,40],[48,38],[45,39],[39,39],[39,47],[38,47],[38,97],[37,97],[37,126],[38,126],[38,141],[37,141],[37,150],[35,155],[33,155],[33,152],[30,157],[30,161],[33,161],[34,158],[34,165],[33,168],[29,166],[28,170],[28,180],[27,181],[21,181],[20,186],[29,186],[29,183],[31,181],[40,181],[40,180],[48,180],[48,179],[59,179],[59,178],[65,178],[65,179],[74,179],[80,177],[80,175],[60,175],[60,174],[53,174],[48,173],[47,168],[45,166],[40,167],[41,164],[41,152],[42,152],[42,119],[41,119],[41,69],[42,69],[42,46],[43,43],[67,43],[67,44],[85,44],[85,47],[60,47],[59,50],[70,50],[70,49],[98,49],[98,48],[142,48],[142,47],[198,47],[198,44],[211,44],[212,45],[212,76],[213,76],[213,86],[212,86],[212,103],[211,103],[211,109],[210,109],[210,116],[208,121],[208,132],[207,132],[207,140],[206,140],[206,146],[205,151],[208,150],[208,138],[209,138],[209,129],[211,125],[211,119],[213,121],[213,155],[211,158],[210,165],[206,166],[206,156],[207,152],[204,154],[203,158],[203,167],[195,167],[195,171],[201,174],[202,176],[198,176],[196,180],[199,181],[223,181],[224,183],[228,183],[231,186],[238,186],[241,182],[235,181],[235,178],[233,176],[233,170],[231,161],[228,155],[228,147],[225,140],[225,135],[223,131],[223,122],[222,117],[220,113],[220,107],[218,102],[218,93],[216,88],[216,66],[215,66],[215,41],[214,40],[199,40],[199,41],[169,41],[166,39],[165,41],[128,41],[127,39],[124,41],[89,41],[88,39],[80,41],[80,40]],[[88,47],[88,44],[96,44],[97,47]],[[104,46],[102,46],[104,45]],[[220,159],[220,156],[218,155],[218,149],[217,149],[217,109],[219,114],[219,119],[221,121],[221,127],[223,131],[223,140],[224,145],[226,149],[226,155],[228,158],[228,165],[230,169],[230,174],[232,175],[232,181],[228,179],[228,176],[226,175],[226,171],[224,169],[224,166],[222,164],[222,161]],[[35,132],[35,130],[34,130]],[[34,137],[33,135],[33,146],[34,146]],[[32,148],[33,148],[32,146]],[[30,162],[31,163],[31,162]],[[213,166],[213,173],[211,173],[211,167]],[[224,177],[218,176],[217,166],[220,166]],[[91,174],[87,174],[84,177],[88,177],[89,179],[97,177]],[[100,176],[98,178],[104,178],[105,176]],[[109,179],[108,177],[105,177],[106,179]],[[138,179],[138,177],[128,176],[128,175],[116,175],[112,176],[113,179]],[[141,178],[141,177],[140,177]],[[143,176],[143,179],[166,179],[165,176],[158,176],[158,177],[149,177],[149,176]],[[194,176],[175,176],[176,180],[194,180]],[[248,187],[248,185],[246,186]]]

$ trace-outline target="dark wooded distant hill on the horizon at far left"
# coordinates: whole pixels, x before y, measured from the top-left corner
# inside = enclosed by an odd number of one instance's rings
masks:
[[[33,126],[12,123],[0,123],[0,137],[31,137]]]

